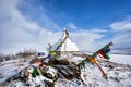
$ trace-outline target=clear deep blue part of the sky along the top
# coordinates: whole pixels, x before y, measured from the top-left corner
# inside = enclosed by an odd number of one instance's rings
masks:
[[[26,2],[29,5],[20,7],[24,15],[38,21],[39,16],[46,13],[59,26],[72,22],[80,28],[104,27],[131,15],[130,0],[27,0]]]

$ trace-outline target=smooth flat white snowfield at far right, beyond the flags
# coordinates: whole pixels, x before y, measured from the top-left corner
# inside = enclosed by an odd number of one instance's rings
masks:
[[[126,54],[110,54],[110,61],[121,63],[121,64],[130,64],[131,65],[131,55]]]

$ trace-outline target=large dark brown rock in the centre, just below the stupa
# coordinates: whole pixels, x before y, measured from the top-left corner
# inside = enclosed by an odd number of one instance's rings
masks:
[[[49,60],[49,64],[50,63],[51,66],[58,71],[58,77],[73,79],[80,75],[76,64],[74,62],[69,62],[67,59],[51,59]]]

